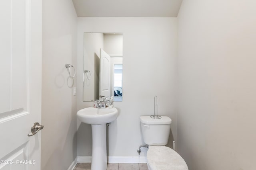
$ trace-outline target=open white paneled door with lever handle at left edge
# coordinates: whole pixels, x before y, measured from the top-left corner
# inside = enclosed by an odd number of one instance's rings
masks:
[[[0,170],[40,170],[42,0],[0,0]]]

